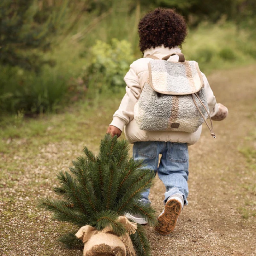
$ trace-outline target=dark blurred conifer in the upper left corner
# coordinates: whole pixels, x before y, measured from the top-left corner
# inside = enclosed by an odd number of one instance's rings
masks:
[[[60,28],[68,0],[62,6],[40,10],[35,0],[0,1],[0,64],[40,71],[44,60],[42,52],[49,50],[52,37]]]

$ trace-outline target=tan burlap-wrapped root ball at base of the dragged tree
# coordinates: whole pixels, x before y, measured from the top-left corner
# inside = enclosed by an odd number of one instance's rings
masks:
[[[90,225],[79,229],[76,237],[84,243],[84,256],[136,256],[129,235],[136,232],[137,224],[124,216],[120,216],[118,221],[124,224],[127,231],[123,236],[113,234],[109,226],[101,231]]]

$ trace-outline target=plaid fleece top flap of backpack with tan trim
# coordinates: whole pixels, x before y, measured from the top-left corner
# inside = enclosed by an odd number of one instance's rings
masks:
[[[196,61],[172,62],[151,60],[148,63],[149,83],[162,94],[188,95],[203,87],[203,77]]]

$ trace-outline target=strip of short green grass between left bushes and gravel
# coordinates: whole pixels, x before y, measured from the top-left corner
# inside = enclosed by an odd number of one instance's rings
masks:
[[[31,147],[35,148],[36,153],[39,145],[65,139],[75,143],[82,141],[84,136],[90,137],[92,133],[95,135],[90,140],[98,140],[107,130],[112,120],[112,109],[118,108],[123,94],[124,91],[116,94],[115,98],[99,95],[91,105],[80,102],[62,109],[59,114],[41,114],[36,118],[27,118],[22,114],[8,116],[0,123],[0,153],[10,153],[21,146],[30,150]],[[20,140],[22,142],[16,143]]]

